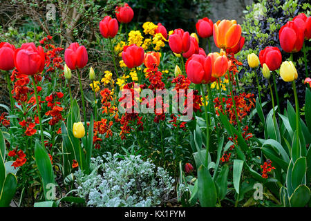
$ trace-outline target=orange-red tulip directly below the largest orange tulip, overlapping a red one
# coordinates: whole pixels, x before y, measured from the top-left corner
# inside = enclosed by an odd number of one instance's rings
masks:
[[[220,53],[214,52],[207,55],[211,57],[211,77],[222,77],[231,66],[231,61],[228,60],[226,52],[220,50]]]

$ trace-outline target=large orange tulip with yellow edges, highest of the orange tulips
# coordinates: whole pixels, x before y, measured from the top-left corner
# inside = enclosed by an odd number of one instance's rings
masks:
[[[234,48],[241,38],[242,28],[236,20],[218,20],[214,23],[214,41],[218,48]]]

